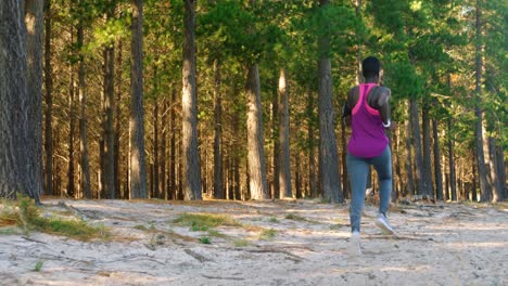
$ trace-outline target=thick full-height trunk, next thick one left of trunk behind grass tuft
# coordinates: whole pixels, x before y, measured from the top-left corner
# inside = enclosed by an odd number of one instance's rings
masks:
[[[147,198],[143,122],[143,0],[135,0],[132,5],[130,61],[130,197]]]

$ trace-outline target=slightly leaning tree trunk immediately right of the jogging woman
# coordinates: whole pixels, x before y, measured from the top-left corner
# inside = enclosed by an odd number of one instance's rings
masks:
[[[412,131],[412,145],[415,148],[415,168],[416,168],[416,180],[417,180],[417,194],[427,195],[424,178],[423,178],[423,155],[421,152],[421,136],[420,136],[420,122],[418,102],[416,99],[409,100],[410,115],[411,118],[411,131]]]

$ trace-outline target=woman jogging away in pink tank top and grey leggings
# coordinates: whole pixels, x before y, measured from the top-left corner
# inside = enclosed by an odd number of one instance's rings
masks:
[[[367,176],[372,165],[379,178],[379,214],[376,225],[384,234],[392,235],[386,211],[392,192],[392,154],[389,146],[386,129],[393,129],[390,120],[389,88],[379,87],[380,62],[369,56],[361,63],[365,83],[350,90],[344,105],[343,118],[352,128],[352,135],[347,144],[347,171],[352,184],[352,200],[350,219],[352,235],[350,253],[361,255],[360,250],[360,219],[365,200]]]

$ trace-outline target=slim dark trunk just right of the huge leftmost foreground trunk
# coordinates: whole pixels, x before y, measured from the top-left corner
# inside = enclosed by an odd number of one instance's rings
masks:
[[[45,113],[45,194],[53,194],[53,68],[51,65],[51,0],[45,2],[45,88],[46,88],[46,113]]]

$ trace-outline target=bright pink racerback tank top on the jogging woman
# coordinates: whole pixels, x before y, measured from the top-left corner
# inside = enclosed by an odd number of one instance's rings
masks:
[[[372,158],[383,153],[389,144],[379,110],[370,107],[367,95],[376,83],[359,84],[359,98],[352,112],[353,130],[347,152],[356,157]]]

